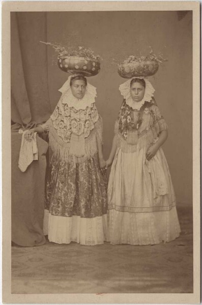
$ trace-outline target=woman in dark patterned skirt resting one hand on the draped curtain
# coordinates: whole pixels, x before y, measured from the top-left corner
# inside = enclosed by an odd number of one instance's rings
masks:
[[[95,106],[96,88],[81,75],[70,76],[61,99],[42,126],[53,156],[46,187],[44,233],[49,241],[98,245],[107,235],[102,118]]]

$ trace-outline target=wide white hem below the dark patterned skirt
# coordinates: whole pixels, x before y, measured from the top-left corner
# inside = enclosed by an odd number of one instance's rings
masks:
[[[49,241],[55,243],[74,241],[85,246],[101,245],[107,240],[107,215],[95,218],[61,217],[53,216],[45,210],[45,233],[48,233]]]

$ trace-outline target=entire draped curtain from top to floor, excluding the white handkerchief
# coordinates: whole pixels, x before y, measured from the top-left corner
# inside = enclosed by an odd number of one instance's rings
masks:
[[[37,137],[38,161],[18,168],[19,128],[32,128],[50,114],[47,74],[46,13],[11,13],[11,193],[12,241],[23,247],[44,245],[45,174],[48,143]],[[44,138],[44,136],[42,136]]]

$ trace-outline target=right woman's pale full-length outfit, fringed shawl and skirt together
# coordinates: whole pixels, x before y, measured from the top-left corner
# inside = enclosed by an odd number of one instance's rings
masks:
[[[148,245],[180,234],[176,197],[162,148],[148,161],[147,149],[167,125],[159,108],[137,110],[124,100],[115,124],[117,151],[108,182],[109,241]]]

